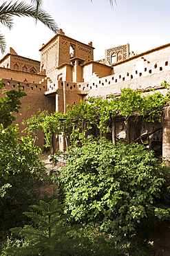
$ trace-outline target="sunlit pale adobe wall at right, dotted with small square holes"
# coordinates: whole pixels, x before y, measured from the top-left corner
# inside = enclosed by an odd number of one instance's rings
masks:
[[[170,84],[170,46],[129,60],[113,65],[114,75],[94,77],[94,82],[89,82],[92,86],[89,96],[106,97],[120,93],[127,86],[131,89],[160,86],[164,80]]]

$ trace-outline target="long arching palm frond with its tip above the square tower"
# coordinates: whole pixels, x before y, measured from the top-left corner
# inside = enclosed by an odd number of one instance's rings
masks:
[[[8,20],[8,26],[10,22],[12,22],[12,17],[32,17],[38,21],[41,21],[47,28],[50,28],[54,33],[58,33],[58,26],[56,24],[56,21],[51,17],[51,15],[45,10],[39,8],[39,10],[36,10],[36,7],[30,6],[27,3],[24,3],[21,1],[21,3],[15,2],[15,3],[7,3],[5,1],[0,6],[0,17],[6,17]],[[4,25],[6,25],[4,19],[0,19],[0,22]]]

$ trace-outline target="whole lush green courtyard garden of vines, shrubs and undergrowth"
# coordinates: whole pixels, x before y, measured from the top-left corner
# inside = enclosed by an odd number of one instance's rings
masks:
[[[39,111],[19,134],[12,121],[24,96],[19,88],[0,102],[1,255],[169,253],[169,246],[152,240],[161,240],[162,228],[169,234],[168,165],[147,150],[147,141],[128,144],[103,136],[120,116],[161,123],[169,94],[145,98],[126,89],[110,103],[90,99],[68,106],[66,114]],[[93,125],[98,138],[87,136]],[[35,145],[40,129],[48,154]],[[54,133],[70,140],[65,152],[54,152]],[[59,167],[61,159],[65,167]]]

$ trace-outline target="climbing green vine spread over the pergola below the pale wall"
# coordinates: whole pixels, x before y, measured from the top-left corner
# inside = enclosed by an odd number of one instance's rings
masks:
[[[169,84],[162,83],[162,86],[169,90]],[[56,133],[58,136],[70,138],[74,143],[87,136],[96,126],[100,134],[109,132],[112,129],[112,123],[116,120],[125,122],[126,120],[139,120],[143,122],[161,122],[164,108],[170,100],[170,94],[163,95],[160,92],[150,91],[145,95],[142,90],[133,90],[125,88],[121,90],[119,98],[110,95],[108,99],[89,98],[87,103],[80,102],[67,106],[67,113],[47,113],[39,112],[38,116],[32,115],[25,123],[28,127],[25,132],[30,133],[34,138],[38,137],[37,131],[41,129],[45,134],[45,147],[52,148],[52,136]],[[24,122],[23,122],[24,123]]]

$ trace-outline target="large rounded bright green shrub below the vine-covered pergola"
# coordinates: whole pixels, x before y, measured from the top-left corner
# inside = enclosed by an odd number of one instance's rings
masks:
[[[115,147],[102,138],[67,156],[59,185],[74,221],[94,223],[120,240],[142,219],[169,219],[169,169],[142,145]]]

